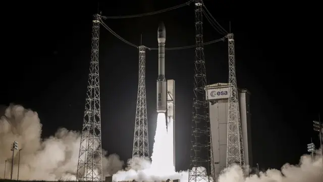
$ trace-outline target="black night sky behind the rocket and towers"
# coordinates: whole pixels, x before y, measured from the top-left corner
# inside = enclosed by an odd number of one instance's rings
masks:
[[[104,1],[102,15],[146,13],[186,2]],[[258,2],[258,1],[257,1]],[[321,65],[312,31],[314,10],[306,5],[276,2],[207,1],[218,22],[232,32],[236,42],[239,87],[252,93],[253,161],[260,168],[297,163],[310,138],[318,144],[311,121],[322,111]],[[21,104],[37,111],[43,136],[59,127],[80,130],[83,119],[91,49],[92,14],[96,2],[19,3],[6,15],[3,30],[0,104]],[[9,7],[9,6],[8,6]],[[302,11],[298,11],[302,9]],[[308,11],[309,13],[305,13]],[[194,6],[132,19],[105,20],[126,40],[157,47],[157,26],[164,21],[166,47],[195,44]],[[312,32],[311,32],[312,31]],[[138,50],[103,27],[100,31],[100,90],[102,146],[122,159],[132,155],[138,84]],[[204,42],[222,35],[204,21]],[[316,38],[315,38],[316,37]],[[205,46],[210,83],[228,80],[228,43]],[[320,58],[321,59],[321,58]],[[176,80],[177,169],[189,165],[193,97],[194,49],[166,52],[166,77]],[[155,132],[155,81],[157,52],[146,53],[146,90],[150,153]]]

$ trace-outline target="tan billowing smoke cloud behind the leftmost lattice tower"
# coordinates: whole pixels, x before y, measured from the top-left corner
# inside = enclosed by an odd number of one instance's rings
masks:
[[[59,129],[54,136],[41,139],[38,114],[19,105],[9,106],[0,112],[0,177],[10,178],[11,144],[18,142],[20,152],[19,179],[21,180],[75,180],[80,148],[80,133]],[[105,157],[102,152],[103,176],[110,176],[121,170],[123,161],[112,154]],[[14,156],[13,178],[17,178],[18,150]],[[7,164],[5,164],[7,160]]]

